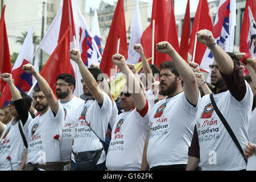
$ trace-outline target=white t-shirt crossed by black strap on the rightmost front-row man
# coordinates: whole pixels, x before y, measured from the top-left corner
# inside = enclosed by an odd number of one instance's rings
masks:
[[[242,101],[237,101],[229,90],[213,94],[213,97],[244,151],[249,142],[247,126],[253,104],[253,93],[249,84],[246,82],[246,94]],[[201,98],[199,103],[196,113],[196,127],[202,170],[246,169],[245,160],[214,111],[209,94]]]

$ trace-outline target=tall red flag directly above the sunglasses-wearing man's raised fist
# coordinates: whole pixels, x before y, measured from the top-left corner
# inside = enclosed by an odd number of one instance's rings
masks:
[[[112,63],[111,58],[115,53],[117,53],[118,39],[120,39],[119,53],[127,59],[128,51],[123,0],[118,0],[117,7],[115,7],[115,13],[100,64],[101,71],[106,73],[108,76],[110,76],[110,69],[115,69],[115,65]]]

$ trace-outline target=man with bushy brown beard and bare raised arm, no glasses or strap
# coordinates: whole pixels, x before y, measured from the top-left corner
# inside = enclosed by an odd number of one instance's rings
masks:
[[[156,51],[172,61],[160,64],[159,94],[167,98],[152,108],[141,169],[185,170],[200,93],[195,74],[171,44],[160,42]]]

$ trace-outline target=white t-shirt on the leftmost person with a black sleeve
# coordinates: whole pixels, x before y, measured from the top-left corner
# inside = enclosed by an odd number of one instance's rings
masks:
[[[24,152],[26,151],[26,147],[24,146],[24,142],[19,131],[19,124],[13,120],[14,119],[6,125],[1,137],[2,139],[0,140],[0,171],[11,170],[11,165],[13,170],[18,169],[22,163]],[[25,138],[27,138],[27,127],[31,121],[32,117],[30,113],[28,114],[28,119],[24,126],[22,121],[19,120]],[[8,156],[11,157],[11,163],[6,159]]]

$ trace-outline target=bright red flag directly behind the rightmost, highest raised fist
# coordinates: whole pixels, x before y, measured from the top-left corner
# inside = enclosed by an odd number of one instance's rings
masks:
[[[208,6],[207,0],[199,0],[198,6],[197,6],[196,15],[193,22],[191,35],[190,35],[189,48],[188,48],[188,52],[191,55],[193,55],[196,32],[203,29],[207,29],[210,31],[213,30],[213,23],[212,23],[212,18],[210,17],[210,14],[209,14],[209,6]],[[196,43],[195,62],[199,65],[201,64],[201,60],[204,56],[205,49],[207,49],[207,46],[199,42]]]

